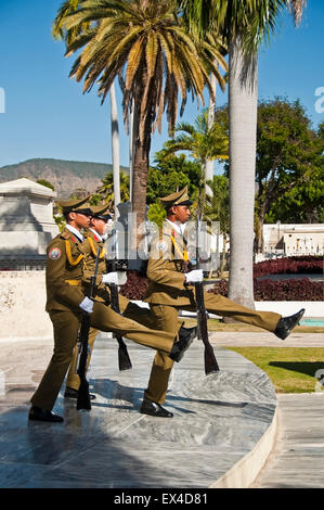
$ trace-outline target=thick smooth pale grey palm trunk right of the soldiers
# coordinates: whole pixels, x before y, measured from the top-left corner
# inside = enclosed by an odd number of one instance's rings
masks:
[[[239,39],[230,47],[229,296],[254,308],[254,205],[257,132],[257,55],[247,63]]]

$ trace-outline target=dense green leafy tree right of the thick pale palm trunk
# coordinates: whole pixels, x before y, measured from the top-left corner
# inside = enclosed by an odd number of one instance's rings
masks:
[[[323,126],[311,128],[299,101],[276,98],[259,105],[256,209],[261,225],[321,220],[323,149]]]

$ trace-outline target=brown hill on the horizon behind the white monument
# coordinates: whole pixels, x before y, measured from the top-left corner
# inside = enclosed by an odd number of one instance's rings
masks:
[[[120,170],[129,174],[129,168],[120,166]],[[53,184],[59,197],[68,197],[78,189],[93,193],[101,186],[101,179],[113,171],[113,165],[92,162],[36,158],[16,165],[0,168],[0,182],[21,177],[37,181],[46,179]]]

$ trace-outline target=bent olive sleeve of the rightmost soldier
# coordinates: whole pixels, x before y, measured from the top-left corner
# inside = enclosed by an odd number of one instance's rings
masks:
[[[147,264],[147,278],[156,283],[182,288],[185,282],[183,272],[176,270],[170,260],[171,244],[155,238],[151,243],[150,258]]]

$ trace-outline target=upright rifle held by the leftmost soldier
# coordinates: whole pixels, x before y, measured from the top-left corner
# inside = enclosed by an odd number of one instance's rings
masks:
[[[98,266],[99,266],[99,257],[100,257],[100,247],[98,248],[98,252],[96,252],[94,275],[90,278],[90,295],[89,295],[90,298],[92,298],[94,294],[94,286],[95,286]],[[89,330],[90,330],[90,314],[88,314],[88,311],[83,311],[81,327],[79,331],[79,353],[78,353],[77,374],[80,378],[80,386],[78,391],[77,409],[78,410],[87,409],[88,411],[91,409],[89,383],[86,377],[87,359],[88,359],[88,354],[89,354],[88,353]]]

